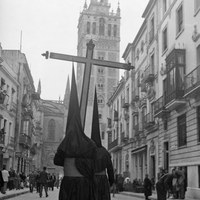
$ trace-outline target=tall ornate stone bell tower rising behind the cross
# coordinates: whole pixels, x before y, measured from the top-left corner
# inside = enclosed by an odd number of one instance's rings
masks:
[[[108,3],[108,0],[91,0],[89,6],[85,3],[78,22],[78,56],[86,56],[86,44],[92,39],[95,44],[93,58],[116,62],[119,61],[120,8],[118,7],[116,13],[110,12],[110,8],[111,5]],[[79,96],[81,95],[83,73],[83,64],[78,64],[77,86]],[[105,139],[108,116],[106,104],[114,92],[118,80],[118,69],[109,69],[101,66],[92,67],[85,133],[90,137],[94,87],[96,86],[101,138],[104,146],[107,146],[107,140]]]

